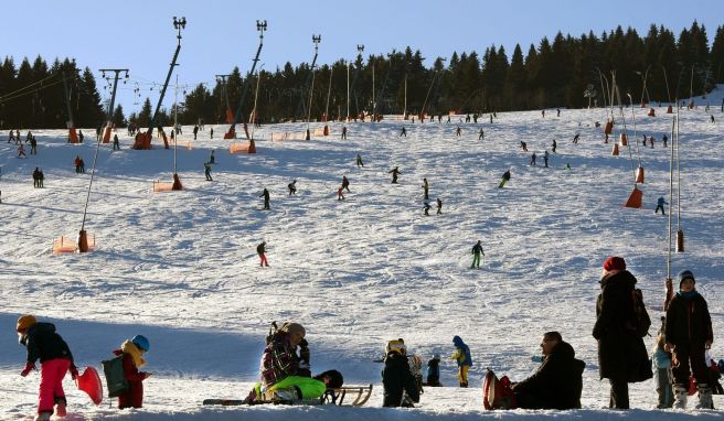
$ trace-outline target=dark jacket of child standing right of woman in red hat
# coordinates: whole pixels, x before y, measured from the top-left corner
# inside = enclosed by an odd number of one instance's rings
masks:
[[[714,341],[712,317],[706,300],[696,291],[690,294],[677,293],[667,310],[667,342],[673,345]],[[689,296],[689,298],[686,298]]]

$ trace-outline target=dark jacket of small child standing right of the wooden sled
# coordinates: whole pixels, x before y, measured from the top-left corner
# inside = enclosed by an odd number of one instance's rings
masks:
[[[419,402],[419,390],[409,370],[407,357],[404,355],[397,353],[387,355],[382,370],[382,386],[384,387],[383,407],[412,407],[411,402],[403,402],[405,392],[409,400]]]

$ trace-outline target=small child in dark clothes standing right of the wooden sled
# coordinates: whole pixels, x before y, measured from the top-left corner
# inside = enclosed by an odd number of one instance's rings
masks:
[[[419,402],[419,389],[407,361],[407,347],[402,338],[387,342],[385,346],[384,369],[382,370],[384,397],[382,406],[386,408],[413,408]]]

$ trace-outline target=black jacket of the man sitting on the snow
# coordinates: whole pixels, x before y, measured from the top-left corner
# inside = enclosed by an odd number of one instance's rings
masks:
[[[573,347],[560,342],[533,376],[513,386],[518,393],[531,395],[541,401],[544,409],[581,408],[583,370],[586,364],[575,358]]]

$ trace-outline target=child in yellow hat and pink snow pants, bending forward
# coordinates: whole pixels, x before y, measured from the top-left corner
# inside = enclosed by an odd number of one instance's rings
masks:
[[[54,324],[38,322],[30,314],[18,319],[15,331],[20,344],[28,350],[25,368],[20,375],[26,377],[34,370],[38,359],[41,364],[35,421],[50,420],[53,411],[57,417],[65,417],[67,401],[63,390],[63,378],[68,371],[73,379],[78,376],[71,348],[61,335],[55,333]]]

